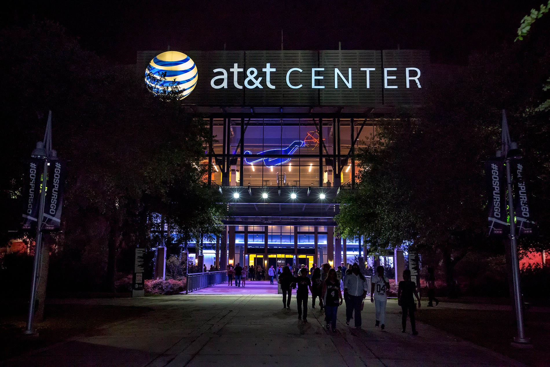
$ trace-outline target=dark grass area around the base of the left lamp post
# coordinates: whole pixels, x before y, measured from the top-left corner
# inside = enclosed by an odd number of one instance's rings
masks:
[[[36,324],[38,338],[23,336],[26,304],[3,303],[0,313],[0,361],[17,357],[79,335],[95,335],[98,327],[148,312],[146,307],[46,304],[44,320]]]

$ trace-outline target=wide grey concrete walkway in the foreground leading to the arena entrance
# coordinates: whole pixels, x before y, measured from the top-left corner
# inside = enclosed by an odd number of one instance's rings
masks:
[[[7,365],[520,365],[428,325],[417,326],[418,336],[410,329],[401,333],[395,301],[388,301],[387,331],[374,327],[374,307],[366,302],[363,329],[346,326],[340,307],[336,333],[324,330],[318,309],[309,309],[308,324],[299,321],[294,297],[290,310],[282,308],[280,296],[182,294],[78,301],[83,302],[145,306],[152,311]]]

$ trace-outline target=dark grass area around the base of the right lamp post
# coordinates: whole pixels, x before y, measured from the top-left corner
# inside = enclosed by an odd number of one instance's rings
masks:
[[[421,308],[417,320],[528,365],[550,364],[550,313],[525,314],[526,336],[531,338],[533,349],[510,345],[517,333],[514,314],[510,311]]]

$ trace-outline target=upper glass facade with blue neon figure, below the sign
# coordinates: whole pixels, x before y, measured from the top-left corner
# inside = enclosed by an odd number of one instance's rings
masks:
[[[213,119],[212,125],[216,139],[212,155],[218,157],[218,164],[211,180],[221,186],[346,184],[353,179],[351,165],[357,170],[357,162],[350,159],[351,144],[355,141],[355,148],[372,146],[376,139],[375,124],[364,120]],[[219,160],[224,155],[232,157],[226,181]]]

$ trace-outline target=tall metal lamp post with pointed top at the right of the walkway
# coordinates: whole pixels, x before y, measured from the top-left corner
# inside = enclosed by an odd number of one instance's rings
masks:
[[[518,259],[518,237],[516,236],[515,228],[515,212],[514,212],[514,196],[511,177],[511,161],[521,158],[521,152],[518,149],[518,144],[510,139],[508,130],[508,121],[506,112],[502,110],[502,151],[497,151],[497,157],[503,156],[506,165],[506,181],[508,185],[508,215],[510,218],[510,250],[512,275],[514,283],[514,306],[516,314],[516,322],[518,324],[518,336],[514,337],[514,342],[520,344],[530,344],[530,338],[525,337],[523,308],[521,301],[521,286],[519,279],[519,259]]]

